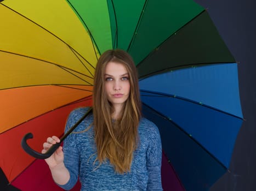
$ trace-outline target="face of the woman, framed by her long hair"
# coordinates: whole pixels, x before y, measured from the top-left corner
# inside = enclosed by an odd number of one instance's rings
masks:
[[[109,62],[105,68],[107,99],[116,111],[120,111],[130,95],[130,81],[126,67],[121,63]]]

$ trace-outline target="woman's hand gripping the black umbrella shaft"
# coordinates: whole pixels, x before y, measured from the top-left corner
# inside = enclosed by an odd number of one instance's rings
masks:
[[[47,150],[57,142],[60,142],[60,139],[57,136],[47,138],[47,141],[43,143],[42,153],[44,154],[45,152],[47,152]],[[50,169],[57,168],[59,165],[62,165],[64,162],[62,147],[60,146],[59,148],[57,148],[52,156],[44,160],[49,165]]]

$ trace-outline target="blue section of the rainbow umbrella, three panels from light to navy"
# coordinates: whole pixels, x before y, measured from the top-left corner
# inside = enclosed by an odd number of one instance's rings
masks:
[[[140,80],[143,114],[187,190],[206,190],[229,168],[241,127],[237,64],[168,71]]]

